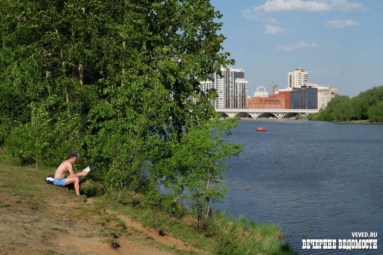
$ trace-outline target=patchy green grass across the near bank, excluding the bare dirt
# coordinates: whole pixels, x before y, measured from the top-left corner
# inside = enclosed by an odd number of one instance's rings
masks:
[[[17,182],[14,181],[15,172],[20,178]],[[0,202],[0,208],[14,212],[50,210],[51,205],[44,201],[49,201],[52,193],[62,197],[60,200],[62,205],[67,205],[66,200],[86,200],[84,197],[75,196],[72,190],[45,184],[44,179],[52,173],[52,169],[33,166],[16,167],[2,162],[0,164],[1,192],[5,196],[11,196],[14,203],[3,200]],[[91,187],[97,187],[97,185],[89,184],[87,186],[89,193],[91,193]],[[125,215],[159,233],[166,232],[190,247],[190,250],[180,251],[177,250],[177,245],[162,245],[151,236],[139,237],[139,242],[144,245],[154,245],[161,250],[177,254],[193,255],[195,254],[194,248],[205,250],[212,255],[298,254],[288,243],[282,241],[283,235],[276,224],[258,224],[254,220],[248,221],[244,215],[236,219],[224,212],[217,212],[213,218],[205,222],[205,229],[197,231],[193,227],[196,220],[186,208],[180,207],[179,204],[172,204],[172,212],[169,214],[169,211],[166,211],[166,205],[170,204],[167,202],[168,200],[169,198],[160,198],[158,201],[151,201],[147,197],[130,191],[109,190],[100,197],[92,197],[91,206],[87,206],[83,202],[71,205],[68,213],[52,216],[51,221],[65,221],[67,224],[71,224],[72,219],[92,221],[100,227],[100,230],[85,236],[82,234],[82,237],[99,236],[103,242],[114,249],[119,245],[117,237],[132,239],[134,238],[132,235],[142,236],[137,229],[126,227],[124,221],[118,217],[118,215]],[[43,219],[43,216],[39,217],[34,216],[33,218],[35,220]],[[50,227],[49,231],[41,234],[39,238],[49,240],[54,237],[53,232],[68,232],[65,228]],[[35,252],[60,254],[54,250],[35,250]]]

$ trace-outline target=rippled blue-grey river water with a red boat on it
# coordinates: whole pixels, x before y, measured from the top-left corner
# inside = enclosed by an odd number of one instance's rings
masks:
[[[383,125],[239,120],[229,192],[215,210],[277,223],[300,254],[383,254]],[[267,132],[257,132],[262,126]],[[244,188],[249,185],[249,190]],[[353,237],[376,232],[377,237]],[[378,239],[378,249],[306,250],[302,239]]]

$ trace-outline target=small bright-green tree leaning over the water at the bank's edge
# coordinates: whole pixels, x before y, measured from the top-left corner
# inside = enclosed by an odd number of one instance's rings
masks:
[[[154,175],[165,177],[162,183],[173,190],[174,201],[182,197],[201,202],[198,219],[210,216],[211,203],[221,202],[225,197],[226,161],[243,152],[243,145],[226,141],[229,130],[237,126],[235,121],[205,120],[191,127],[179,145],[169,145],[172,157],[153,168]],[[184,190],[188,191],[186,195],[182,195]]]

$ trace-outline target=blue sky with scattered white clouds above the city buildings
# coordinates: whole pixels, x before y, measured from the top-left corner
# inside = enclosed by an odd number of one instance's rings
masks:
[[[340,95],[383,85],[383,1],[211,0],[223,14],[224,51],[243,68],[249,96],[257,86],[287,85],[303,67],[308,82]],[[267,87],[269,94],[272,88]]]

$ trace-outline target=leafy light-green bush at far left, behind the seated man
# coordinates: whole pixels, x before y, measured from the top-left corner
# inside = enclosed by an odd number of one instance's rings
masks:
[[[9,133],[4,135],[4,145],[13,164],[57,167],[71,151],[79,152],[76,115],[54,123],[44,107],[32,108],[32,120],[25,124],[8,123],[6,127]]]

